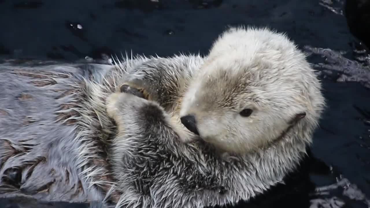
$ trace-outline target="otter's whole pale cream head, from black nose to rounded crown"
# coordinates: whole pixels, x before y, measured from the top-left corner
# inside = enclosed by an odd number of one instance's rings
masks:
[[[305,56],[283,34],[232,28],[213,44],[184,94],[181,123],[223,151],[279,139],[311,141],[324,106]]]

